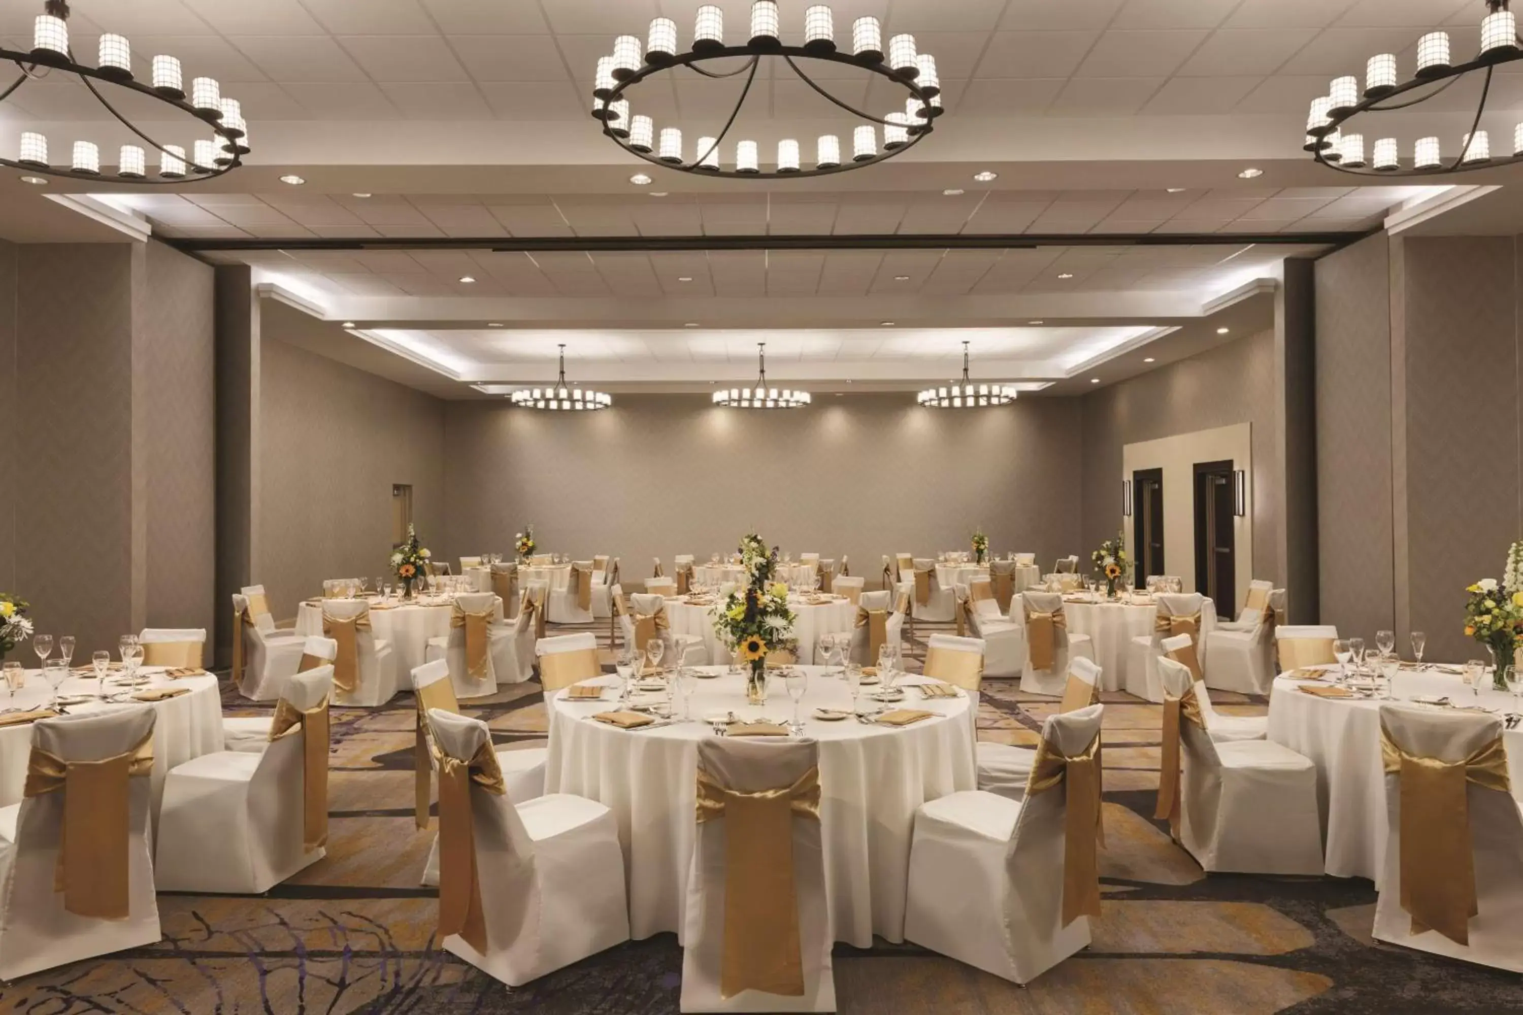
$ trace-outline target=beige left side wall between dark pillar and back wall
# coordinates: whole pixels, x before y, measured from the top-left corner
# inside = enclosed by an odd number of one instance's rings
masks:
[[[419,534],[439,545],[443,402],[268,333],[259,393],[254,575],[276,616],[295,616],[324,578],[384,574],[394,482],[413,485]]]

